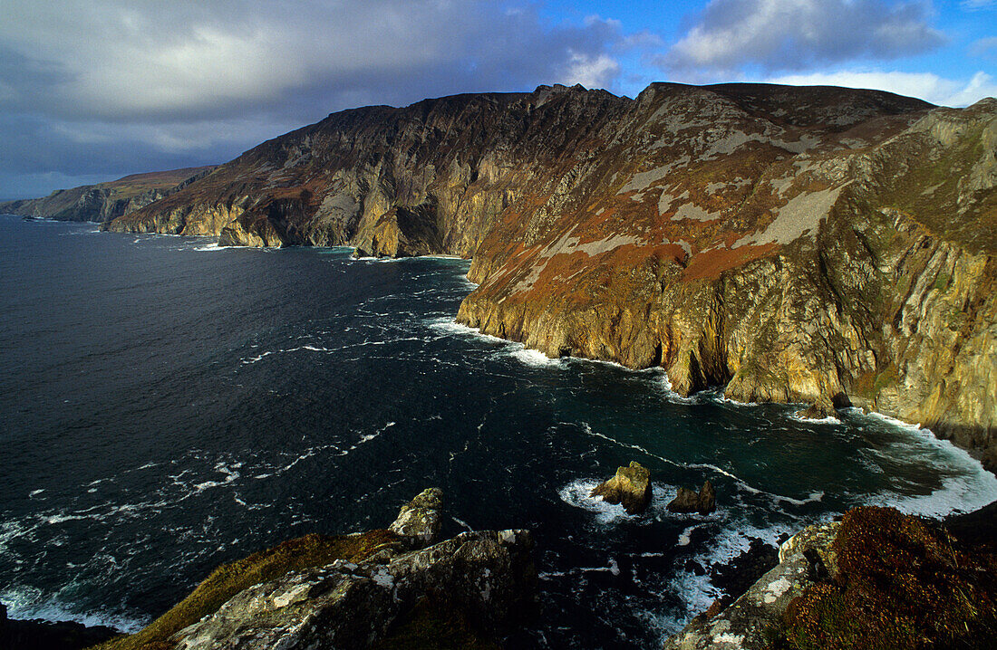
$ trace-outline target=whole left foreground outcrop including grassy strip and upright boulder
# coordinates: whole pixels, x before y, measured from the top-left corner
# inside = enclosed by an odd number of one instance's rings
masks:
[[[221,566],[145,630],[102,647],[498,647],[535,614],[532,540],[485,531],[436,542],[442,506],[431,488],[389,530],[307,536]]]

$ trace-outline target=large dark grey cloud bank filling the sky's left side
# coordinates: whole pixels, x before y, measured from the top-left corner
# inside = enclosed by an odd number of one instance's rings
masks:
[[[0,195],[30,193],[18,174],[224,161],[341,108],[552,82],[612,89],[614,53],[646,40],[484,0],[13,0],[4,14]]]

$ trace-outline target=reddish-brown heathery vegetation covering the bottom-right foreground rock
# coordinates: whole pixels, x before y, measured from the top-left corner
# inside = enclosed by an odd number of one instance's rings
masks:
[[[838,574],[788,607],[773,645],[798,650],[989,648],[997,557],[886,508],[847,513]]]

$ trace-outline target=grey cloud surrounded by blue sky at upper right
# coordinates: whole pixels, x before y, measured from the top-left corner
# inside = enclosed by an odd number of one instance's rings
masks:
[[[884,0],[712,0],[655,64],[673,72],[804,70],[890,60],[944,43],[930,5]]]

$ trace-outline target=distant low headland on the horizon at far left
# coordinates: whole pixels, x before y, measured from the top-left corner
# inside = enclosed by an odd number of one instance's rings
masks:
[[[0,202],[0,213],[59,221],[110,221],[206,176],[214,166],[132,174],[97,185],[58,189],[39,199]]]

